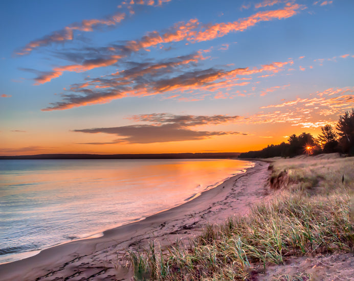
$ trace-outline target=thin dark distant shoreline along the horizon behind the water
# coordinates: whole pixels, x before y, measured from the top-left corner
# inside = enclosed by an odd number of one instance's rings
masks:
[[[145,153],[145,154],[35,154],[0,156],[0,160],[43,160],[43,159],[207,159],[237,158],[239,152],[219,153]]]

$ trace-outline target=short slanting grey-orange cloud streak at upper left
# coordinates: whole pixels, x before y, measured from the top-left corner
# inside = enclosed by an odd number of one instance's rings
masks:
[[[116,13],[106,19],[84,19],[80,23],[75,22],[74,24],[64,27],[62,30],[54,31],[49,35],[43,36],[40,39],[29,42],[24,48],[15,52],[18,56],[28,55],[34,49],[42,46],[47,46],[52,43],[63,43],[65,41],[73,40],[74,30],[92,32],[101,26],[115,26],[125,18],[124,13]]]

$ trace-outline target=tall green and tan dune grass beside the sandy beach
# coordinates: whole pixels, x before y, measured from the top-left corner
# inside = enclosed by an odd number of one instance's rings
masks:
[[[271,167],[273,180],[283,181],[271,200],[254,205],[247,216],[206,225],[188,245],[177,242],[161,249],[151,241],[146,251],[129,251],[135,279],[251,280],[289,256],[352,251],[354,158],[277,159]],[[274,280],[312,276],[280,275]]]

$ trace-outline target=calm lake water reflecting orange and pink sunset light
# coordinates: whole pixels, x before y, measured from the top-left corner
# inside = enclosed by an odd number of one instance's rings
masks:
[[[240,160],[0,160],[0,263],[179,205]]]

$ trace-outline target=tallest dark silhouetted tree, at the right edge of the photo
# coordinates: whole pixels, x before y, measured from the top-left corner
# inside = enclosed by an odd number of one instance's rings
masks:
[[[342,152],[354,155],[354,109],[346,111],[344,115],[339,116],[336,125],[338,130],[339,147]]]

